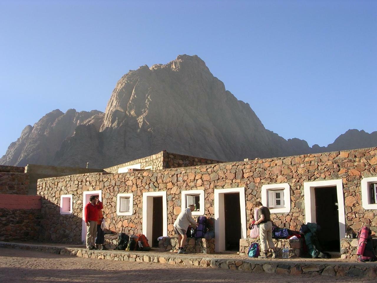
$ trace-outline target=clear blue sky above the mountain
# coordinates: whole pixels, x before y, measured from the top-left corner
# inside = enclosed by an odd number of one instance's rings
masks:
[[[198,55],[267,129],[324,146],[377,130],[377,1],[0,0],[0,156],[123,74]]]

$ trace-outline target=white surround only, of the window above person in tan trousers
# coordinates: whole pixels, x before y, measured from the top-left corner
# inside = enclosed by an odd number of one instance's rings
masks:
[[[283,191],[284,205],[270,208],[271,213],[289,213],[291,211],[291,187],[288,183],[262,186],[262,205],[268,207],[268,191]]]

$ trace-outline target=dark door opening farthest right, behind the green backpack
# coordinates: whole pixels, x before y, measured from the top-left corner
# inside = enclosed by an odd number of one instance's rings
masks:
[[[336,187],[315,188],[319,243],[328,252],[340,251],[339,212]]]

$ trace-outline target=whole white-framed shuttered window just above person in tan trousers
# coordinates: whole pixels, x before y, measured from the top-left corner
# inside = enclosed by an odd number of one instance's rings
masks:
[[[291,188],[288,183],[263,185],[261,202],[271,213],[291,211]]]

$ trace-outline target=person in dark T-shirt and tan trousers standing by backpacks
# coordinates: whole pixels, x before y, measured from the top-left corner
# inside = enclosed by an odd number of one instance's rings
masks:
[[[272,257],[276,258],[276,248],[272,241],[272,222],[270,218],[270,209],[263,206],[260,201],[255,203],[258,208],[258,220],[254,224],[259,224],[259,238],[261,239],[261,255],[260,258],[267,258],[268,248],[272,249]]]

